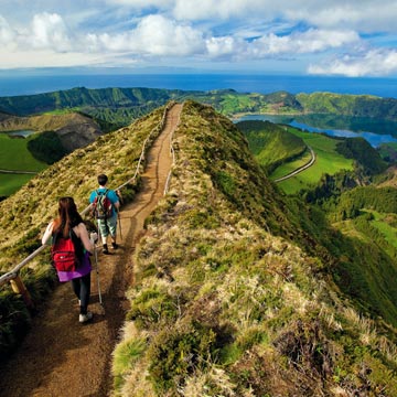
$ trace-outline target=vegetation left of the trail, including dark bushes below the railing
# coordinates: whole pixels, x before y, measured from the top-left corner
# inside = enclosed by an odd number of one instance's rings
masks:
[[[47,223],[56,216],[60,196],[73,195],[79,211],[87,206],[89,192],[97,184],[96,175],[103,172],[104,158],[111,164],[107,174],[112,186],[119,186],[132,178],[143,141],[152,132],[148,140],[149,149],[160,131],[163,110],[159,108],[130,127],[103,136],[90,146],[74,151],[0,202],[0,275],[41,246],[41,236]],[[139,186],[138,178],[124,187],[126,203],[133,200]],[[52,289],[56,277],[54,269],[49,266],[49,253],[40,254],[29,262],[21,277],[33,301],[40,303]],[[0,355],[6,360],[26,332],[30,313],[9,286],[1,288],[0,308]]]

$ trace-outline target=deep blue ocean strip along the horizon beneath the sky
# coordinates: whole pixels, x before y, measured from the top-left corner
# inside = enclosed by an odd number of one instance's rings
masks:
[[[232,88],[239,93],[291,94],[330,92],[397,98],[396,78],[348,78],[259,74],[81,74],[23,75],[0,73],[0,96],[31,95],[74,87],[148,87],[183,90]]]

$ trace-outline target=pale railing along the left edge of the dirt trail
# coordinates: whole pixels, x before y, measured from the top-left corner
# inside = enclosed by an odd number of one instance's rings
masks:
[[[146,146],[148,143],[148,140],[151,138],[151,136],[153,135],[153,132],[155,131],[161,131],[164,128],[165,125],[165,120],[167,120],[167,115],[168,111],[175,105],[175,101],[170,101],[164,109],[163,116],[161,118],[161,121],[159,122],[159,125],[157,127],[154,127],[150,133],[148,135],[148,137],[144,139],[143,144],[142,144],[142,150],[141,150],[141,154],[139,157],[138,160],[138,164],[135,171],[135,174],[132,178],[130,178],[127,182],[122,183],[120,186],[116,187],[115,190],[121,190],[122,187],[127,186],[129,183],[133,182],[139,173],[139,169],[141,165],[141,162],[144,160],[144,154],[146,154]],[[81,215],[85,215],[89,210],[90,210],[90,205],[88,205],[86,208],[84,208],[81,212]],[[12,281],[13,279],[15,279],[18,277],[19,271],[25,266],[28,265],[33,258],[35,258],[41,251],[43,251],[47,246],[46,245],[42,245],[40,246],[36,250],[34,250],[32,254],[30,254],[26,258],[24,258],[20,264],[18,264],[12,270],[8,271],[7,273],[2,275],[0,277],[0,287],[3,286],[4,283]]]

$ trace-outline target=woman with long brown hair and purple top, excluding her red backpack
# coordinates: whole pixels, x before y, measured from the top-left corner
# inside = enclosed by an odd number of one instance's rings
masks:
[[[78,267],[72,271],[56,270],[61,282],[72,281],[72,288],[79,303],[78,321],[85,323],[93,319],[88,311],[90,294],[90,260],[94,253],[94,236],[90,239],[73,197],[62,197],[58,202],[58,217],[50,222],[42,238],[43,244],[51,240],[53,248],[57,238],[72,239]],[[54,265],[56,267],[56,264]]]

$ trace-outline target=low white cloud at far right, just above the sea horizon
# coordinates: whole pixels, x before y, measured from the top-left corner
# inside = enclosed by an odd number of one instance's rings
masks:
[[[345,55],[326,65],[310,65],[310,74],[343,75],[350,77],[385,76],[397,73],[396,50],[371,50],[362,56]]]

